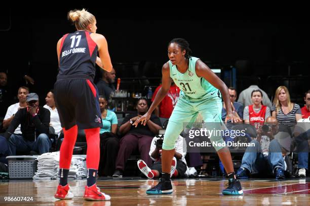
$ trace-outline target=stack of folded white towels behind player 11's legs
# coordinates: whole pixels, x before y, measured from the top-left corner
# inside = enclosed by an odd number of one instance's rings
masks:
[[[69,179],[86,177],[86,156],[72,156]],[[44,153],[37,157],[37,171],[33,179],[57,179],[59,177],[59,151]]]

